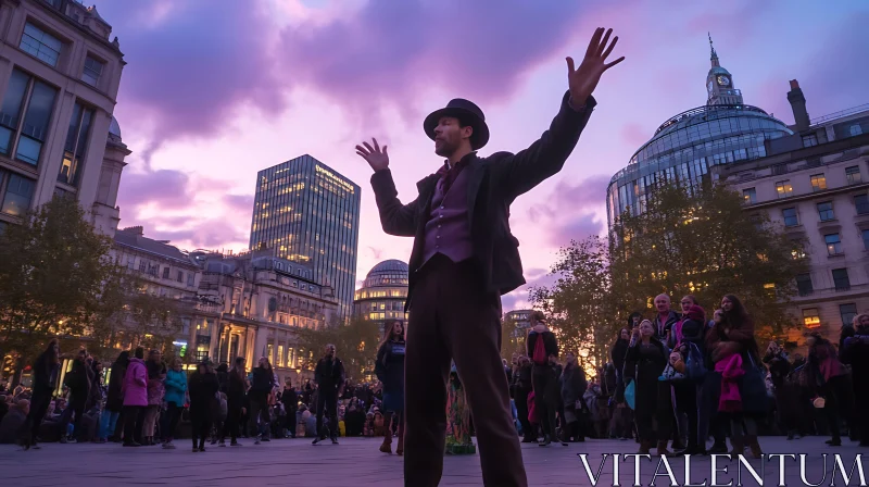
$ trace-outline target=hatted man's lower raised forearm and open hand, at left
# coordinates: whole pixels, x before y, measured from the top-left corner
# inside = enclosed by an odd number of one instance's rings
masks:
[[[356,153],[365,159],[375,172],[371,176],[371,187],[383,232],[399,237],[416,235],[418,203],[417,200],[414,200],[408,204],[402,204],[399,200],[399,191],[395,189],[395,182],[392,180],[392,172],[389,170],[387,146],[381,149],[377,139],[371,139],[370,145],[362,142],[361,146],[356,146]]]

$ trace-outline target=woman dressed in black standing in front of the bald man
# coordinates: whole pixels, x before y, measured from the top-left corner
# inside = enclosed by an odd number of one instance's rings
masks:
[[[667,451],[667,440],[672,427],[670,383],[658,380],[668,358],[669,350],[657,339],[654,325],[648,320],[643,320],[633,329],[625,357],[626,385],[635,382],[633,410],[640,436],[640,454],[648,454],[656,439],[657,453],[671,454]],[[654,427],[655,424],[657,428]]]

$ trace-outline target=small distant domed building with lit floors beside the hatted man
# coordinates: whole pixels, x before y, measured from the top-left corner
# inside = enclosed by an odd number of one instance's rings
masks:
[[[353,297],[353,314],[376,321],[381,332],[390,320],[407,320],[407,264],[402,261],[391,259],[375,265]]]

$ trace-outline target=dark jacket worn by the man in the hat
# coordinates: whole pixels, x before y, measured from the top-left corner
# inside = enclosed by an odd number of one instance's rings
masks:
[[[565,93],[562,109],[550,129],[528,149],[516,154],[496,152],[488,158],[475,155],[463,170],[469,172],[467,198],[471,259],[482,273],[487,291],[504,295],[525,284],[519,240],[509,229],[509,205],[516,197],[558,173],[574,151],[579,134],[597,103],[589,97],[585,107],[577,111],[570,108],[568,99],[569,92]],[[431,213],[431,196],[439,177],[432,174],[417,183],[419,196],[411,203],[402,204],[390,170],[378,171],[371,176],[383,232],[414,237],[405,309],[411,307],[416,272],[425,263],[426,222]]]

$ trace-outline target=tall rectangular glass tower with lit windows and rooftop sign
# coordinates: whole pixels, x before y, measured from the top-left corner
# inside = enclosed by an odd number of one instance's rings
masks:
[[[356,283],[360,187],[308,154],[260,171],[251,250],[307,264],[350,316]]]

